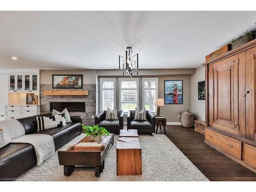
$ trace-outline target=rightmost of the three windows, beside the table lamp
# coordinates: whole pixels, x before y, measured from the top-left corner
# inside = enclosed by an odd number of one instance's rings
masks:
[[[156,114],[154,99],[158,98],[158,78],[142,78],[142,107]]]

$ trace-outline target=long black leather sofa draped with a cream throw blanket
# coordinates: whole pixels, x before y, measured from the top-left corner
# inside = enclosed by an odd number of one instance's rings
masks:
[[[50,116],[44,114],[40,116]],[[71,116],[71,123],[62,127],[56,127],[50,130],[36,132],[36,116],[26,117],[18,119],[24,126],[25,134],[48,134],[53,137],[55,150],[68,141],[81,134],[82,118],[80,116]],[[34,147],[31,144],[14,144],[9,143],[8,145],[0,148],[0,178],[12,179],[23,173],[29,167],[35,165],[36,155]],[[7,179],[7,180],[8,180]]]

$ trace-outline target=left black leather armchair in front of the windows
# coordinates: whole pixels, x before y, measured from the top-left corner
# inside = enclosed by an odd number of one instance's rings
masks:
[[[123,111],[117,111],[117,116],[119,120],[106,120],[106,111],[101,111],[95,116],[95,124],[104,127],[110,133],[120,133],[123,129]]]

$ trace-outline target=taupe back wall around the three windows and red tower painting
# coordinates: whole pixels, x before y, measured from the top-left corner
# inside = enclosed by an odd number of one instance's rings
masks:
[[[158,78],[158,97],[164,98],[164,80],[183,80],[183,104],[165,104],[160,107],[160,114],[166,117],[167,122],[179,122],[178,113],[191,109],[190,99],[190,74],[186,75],[148,75],[148,76],[136,76],[139,78],[139,108],[142,109],[142,78],[157,77]],[[119,78],[123,76],[98,76],[98,82],[100,78],[116,78],[116,108],[119,109]],[[100,89],[98,90],[100,97]],[[99,99],[99,111],[100,111],[100,99]]]

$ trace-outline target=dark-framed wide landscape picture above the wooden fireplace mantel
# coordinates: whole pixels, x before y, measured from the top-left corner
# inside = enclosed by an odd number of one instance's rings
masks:
[[[82,89],[82,75],[52,75],[53,89]]]

